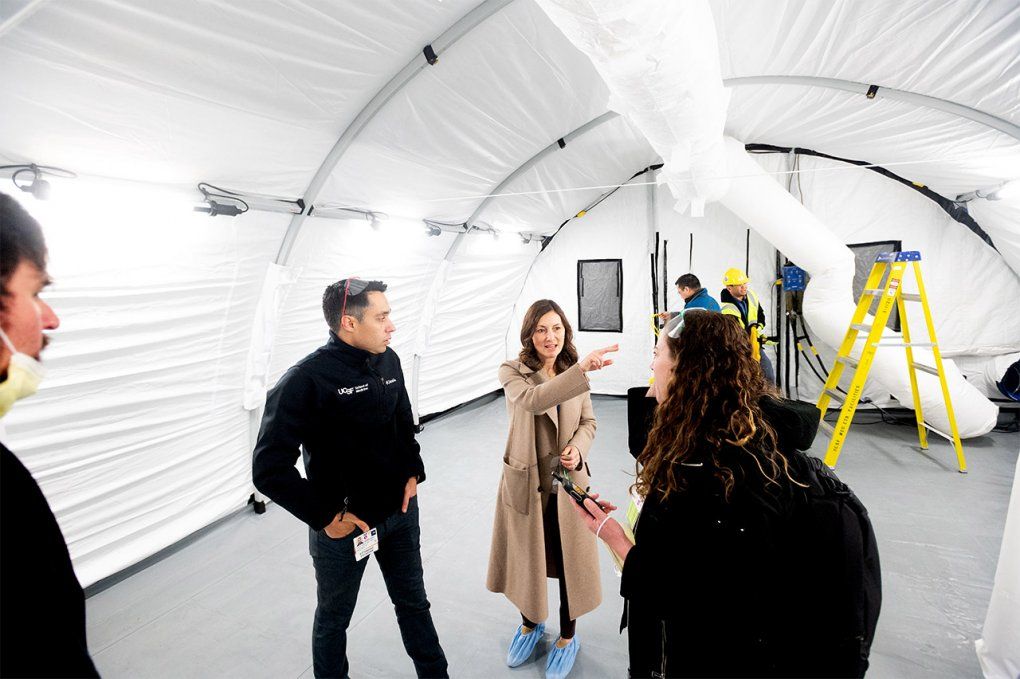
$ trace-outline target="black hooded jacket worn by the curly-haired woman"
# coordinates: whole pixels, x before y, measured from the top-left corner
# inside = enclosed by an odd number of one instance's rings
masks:
[[[805,480],[809,463],[797,450],[811,446],[817,409],[771,399],[762,407],[792,476]],[[683,467],[685,489],[646,502],[620,587],[631,676],[853,676],[820,624],[838,577],[812,572],[802,491],[765,487],[750,458],[735,472],[728,502],[695,466]]]

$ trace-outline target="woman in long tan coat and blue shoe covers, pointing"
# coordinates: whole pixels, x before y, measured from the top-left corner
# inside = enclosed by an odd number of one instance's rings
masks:
[[[539,300],[527,310],[516,361],[500,366],[510,433],[493,527],[487,586],[506,594],[520,611],[507,665],[527,661],[545,630],[547,578],[559,580],[560,639],[550,652],[546,676],[565,677],[579,647],[574,623],[602,600],[596,540],[570,507],[573,501],[553,481],[555,470],[588,487],[588,452],[595,415],[584,373],[612,363],[616,346],[577,361],[573,331],[563,310]],[[559,491],[558,491],[559,490]]]

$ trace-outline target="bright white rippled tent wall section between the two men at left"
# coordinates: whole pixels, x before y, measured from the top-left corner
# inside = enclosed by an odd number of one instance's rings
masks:
[[[94,191],[72,211],[26,203],[46,225],[55,281],[46,297],[61,323],[49,377],[2,421],[84,585],[248,499],[243,379],[265,263],[285,226],[268,214],[210,224],[152,203],[111,213],[114,197]]]

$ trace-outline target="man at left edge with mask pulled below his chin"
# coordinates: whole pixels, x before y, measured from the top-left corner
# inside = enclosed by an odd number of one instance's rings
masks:
[[[60,320],[39,223],[0,194],[0,417],[35,394],[39,356]],[[85,634],[85,594],[39,484],[0,443],[0,676],[98,677]]]

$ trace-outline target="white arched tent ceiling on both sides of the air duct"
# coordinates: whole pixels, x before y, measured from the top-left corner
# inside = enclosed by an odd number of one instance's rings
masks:
[[[1020,7],[1009,0],[712,8],[724,79],[839,79],[1020,120]],[[591,63],[530,0],[43,0],[2,11],[10,163],[302,197],[358,112],[417,61],[314,199],[464,221],[533,154],[607,110]],[[470,30],[425,65],[422,48],[451,27]],[[731,93],[727,133],[749,143],[867,160],[951,198],[1020,174],[1020,141],[944,111],[800,85]],[[505,191],[616,184],[655,160],[623,120],[573,143],[590,148],[549,156]],[[548,232],[598,193],[505,197],[478,219]],[[1006,227],[989,219],[989,232]]]

